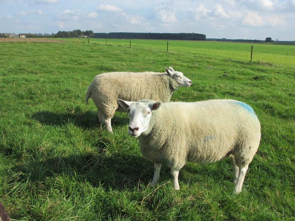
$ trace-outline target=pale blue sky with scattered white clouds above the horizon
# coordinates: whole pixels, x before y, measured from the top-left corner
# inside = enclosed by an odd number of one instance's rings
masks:
[[[200,33],[295,40],[295,0],[0,0],[1,33]]]

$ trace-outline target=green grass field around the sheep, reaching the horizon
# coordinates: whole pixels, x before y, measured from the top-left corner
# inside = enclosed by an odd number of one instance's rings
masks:
[[[61,39],[0,43],[0,200],[12,220],[295,220],[295,46],[229,42]],[[85,93],[111,71],[190,78],[171,101],[235,99],[260,119],[261,144],[242,192],[230,160],[187,163],[180,191],[143,159],[128,116],[113,134]]]

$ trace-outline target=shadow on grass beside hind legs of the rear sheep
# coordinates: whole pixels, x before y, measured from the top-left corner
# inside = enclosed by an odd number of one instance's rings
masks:
[[[100,125],[97,113],[93,111],[86,111],[84,113],[54,113],[44,110],[33,113],[30,118],[47,126],[61,126],[73,123],[81,128],[95,128]],[[126,124],[128,124],[128,116],[124,116],[124,113],[116,113],[112,118],[112,125],[114,126]]]

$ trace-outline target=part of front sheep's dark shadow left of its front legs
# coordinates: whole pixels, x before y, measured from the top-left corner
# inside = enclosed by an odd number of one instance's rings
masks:
[[[148,185],[153,165],[140,156],[117,154],[106,157],[97,154],[71,155],[18,164],[12,171],[19,174],[18,182],[44,182],[50,177],[70,177],[77,182],[89,182],[104,189],[134,189],[138,183]]]

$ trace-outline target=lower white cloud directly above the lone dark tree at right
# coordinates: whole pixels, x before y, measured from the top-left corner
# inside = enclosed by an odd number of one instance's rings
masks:
[[[248,26],[253,26],[253,27],[263,27],[263,26],[270,26],[270,27],[275,27],[275,26],[281,26],[285,25],[286,22],[286,17],[281,15],[275,15],[275,16],[266,16],[266,17],[261,17],[258,15],[257,12],[253,11],[248,11],[247,16],[243,20],[242,24],[243,25],[248,25]]]

